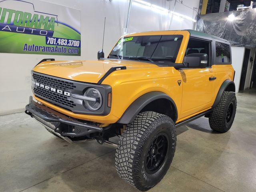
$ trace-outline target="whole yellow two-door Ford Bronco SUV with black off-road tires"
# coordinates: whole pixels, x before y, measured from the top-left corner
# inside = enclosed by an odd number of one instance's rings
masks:
[[[119,176],[139,190],[166,174],[176,128],[209,118],[227,132],[236,113],[230,43],[193,30],[127,34],[107,58],[54,61],[32,70],[26,114],[72,143],[116,145]],[[103,56],[104,57],[104,56]],[[109,141],[118,136],[118,144]]]

